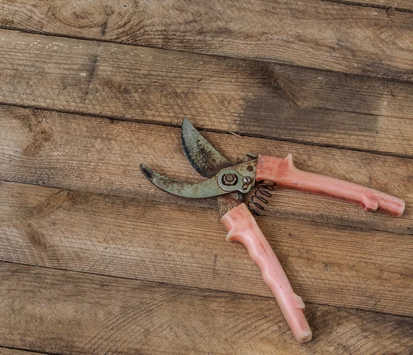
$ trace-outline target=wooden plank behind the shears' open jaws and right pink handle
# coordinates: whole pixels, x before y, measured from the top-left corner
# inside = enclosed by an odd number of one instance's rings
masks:
[[[0,112],[1,180],[216,208],[215,200],[187,200],[160,191],[138,169],[145,162],[171,177],[202,180],[182,153],[178,128],[17,107],[0,107]],[[266,208],[268,215],[412,234],[410,159],[223,133],[204,135],[234,163],[246,152],[293,153],[299,169],[357,182],[407,202],[405,214],[396,219],[328,197],[277,191]]]

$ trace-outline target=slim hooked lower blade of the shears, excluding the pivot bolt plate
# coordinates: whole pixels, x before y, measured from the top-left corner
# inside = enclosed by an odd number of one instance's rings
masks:
[[[204,181],[204,182],[187,182],[182,180],[169,179],[152,170],[145,164],[140,164],[140,171],[147,177],[147,179],[158,186],[160,189],[165,190],[173,195],[192,197],[192,198],[204,198],[213,197],[218,195],[224,195],[228,191],[224,191],[220,188],[217,181],[217,176]]]

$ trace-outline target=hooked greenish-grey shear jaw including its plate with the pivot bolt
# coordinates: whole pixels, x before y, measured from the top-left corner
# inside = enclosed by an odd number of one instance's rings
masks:
[[[235,191],[247,193],[255,184],[257,160],[250,160],[234,166],[229,166],[204,182],[187,182],[170,179],[140,164],[140,171],[149,181],[160,189],[182,197],[205,198],[224,195]]]

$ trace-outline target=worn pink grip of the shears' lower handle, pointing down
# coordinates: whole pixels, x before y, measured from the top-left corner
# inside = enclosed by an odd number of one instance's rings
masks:
[[[262,234],[245,204],[232,208],[221,219],[228,235],[226,240],[240,241],[259,266],[265,283],[271,288],[282,314],[300,343],[311,340],[311,330],[304,316],[304,302],[294,293],[273,249]]]

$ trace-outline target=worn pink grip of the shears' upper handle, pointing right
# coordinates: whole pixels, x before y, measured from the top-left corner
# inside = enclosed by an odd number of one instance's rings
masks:
[[[255,178],[257,181],[275,182],[279,188],[337,197],[353,204],[359,204],[366,210],[378,210],[394,217],[401,217],[405,208],[403,200],[387,193],[335,177],[299,170],[294,166],[291,154],[287,158],[260,155]]]

